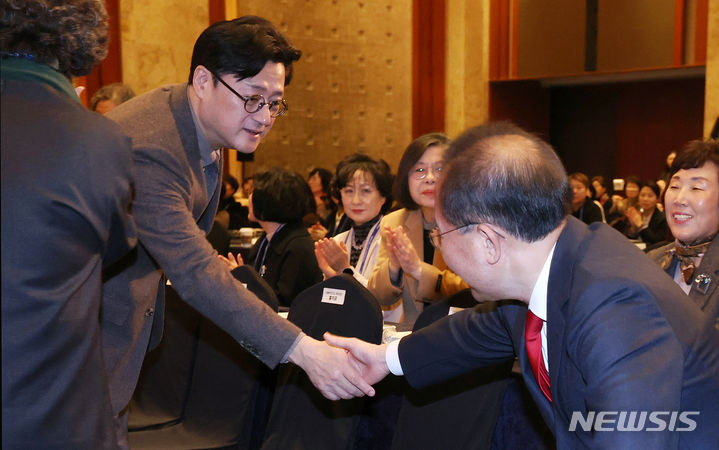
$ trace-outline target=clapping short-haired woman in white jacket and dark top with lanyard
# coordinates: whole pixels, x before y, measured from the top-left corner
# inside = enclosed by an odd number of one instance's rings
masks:
[[[350,273],[367,286],[377,262],[382,215],[392,206],[392,174],[383,160],[354,154],[340,161],[334,189],[340,193],[351,228],[315,243],[315,255],[326,278]]]

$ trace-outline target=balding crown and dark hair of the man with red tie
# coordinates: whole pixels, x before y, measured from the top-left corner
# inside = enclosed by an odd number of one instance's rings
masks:
[[[442,215],[455,226],[491,223],[534,242],[568,214],[572,191],[552,148],[506,123],[464,132],[445,154],[439,195]]]

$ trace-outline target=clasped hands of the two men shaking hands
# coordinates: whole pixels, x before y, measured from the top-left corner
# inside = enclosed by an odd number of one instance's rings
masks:
[[[387,345],[324,334],[325,342],[304,336],[290,353],[314,386],[330,400],[374,396],[372,385],[390,373]]]

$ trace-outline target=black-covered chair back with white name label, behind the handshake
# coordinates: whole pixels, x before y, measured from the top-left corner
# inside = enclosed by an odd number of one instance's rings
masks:
[[[288,320],[315,339],[321,340],[325,331],[375,344],[382,339],[377,299],[347,274],[301,292],[292,302]],[[262,448],[354,448],[364,402],[364,398],[327,400],[302,369],[283,365]]]

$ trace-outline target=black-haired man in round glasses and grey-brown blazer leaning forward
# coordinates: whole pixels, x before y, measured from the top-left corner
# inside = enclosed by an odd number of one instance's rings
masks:
[[[232,277],[205,239],[220,197],[220,149],[255,151],[287,109],[284,88],[299,57],[265,19],[218,22],[195,43],[187,84],[156,89],[107,114],[133,141],[140,241],[105,283],[103,298],[119,433],[126,431],[126,406],[148,344],[162,334],[168,279],[183,300],[266,365],[296,363],[330,399],[374,392],[344,351],[277,316]]]

